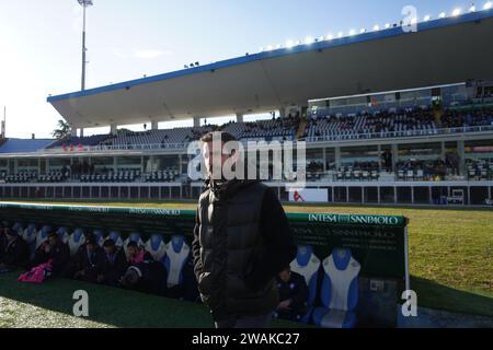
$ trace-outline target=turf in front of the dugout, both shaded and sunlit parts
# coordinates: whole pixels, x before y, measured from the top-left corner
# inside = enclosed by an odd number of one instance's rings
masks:
[[[199,303],[134,291],[56,279],[43,284],[20,283],[21,271],[0,275],[0,328],[209,328],[211,317]],[[72,313],[73,292],[89,294],[89,317]],[[276,320],[273,327],[299,327]]]

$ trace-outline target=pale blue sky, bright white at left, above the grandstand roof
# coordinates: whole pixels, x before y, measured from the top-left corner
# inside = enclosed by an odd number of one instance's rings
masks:
[[[486,0],[475,1],[478,9]],[[256,52],[288,39],[437,18],[467,0],[94,0],[88,9],[87,88]],[[82,8],[77,0],[0,0],[0,107],[7,137],[50,137],[49,94],[80,90]],[[3,116],[2,116],[3,117]],[[139,127],[134,128],[139,130]],[[88,130],[89,131],[89,130]],[[92,131],[92,132],[91,132]],[[108,130],[91,130],[107,132]]]

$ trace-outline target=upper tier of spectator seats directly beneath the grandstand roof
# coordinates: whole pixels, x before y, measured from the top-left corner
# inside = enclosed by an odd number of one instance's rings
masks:
[[[103,149],[133,148],[169,148],[183,145],[198,140],[204,133],[213,130],[230,132],[239,140],[294,140],[301,118],[273,118],[254,122],[228,122],[222,126],[207,125],[193,128],[158,129],[147,131],[129,131],[121,129],[116,135],[96,135],[90,137],[70,137],[53,140],[19,140],[10,139],[2,147],[0,153],[34,152],[41,149],[60,149],[66,152],[80,151],[85,147],[102,147]],[[465,110],[445,109],[437,120],[429,107],[414,107],[369,114],[329,114],[319,109],[308,118],[305,132],[300,139],[308,142],[319,140],[351,140],[358,138],[398,137],[437,135],[440,129],[451,129],[450,132],[473,131],[465,128],[493,127],[493,108],[477,108]],[[462,129],[461,129],[462,128]]]

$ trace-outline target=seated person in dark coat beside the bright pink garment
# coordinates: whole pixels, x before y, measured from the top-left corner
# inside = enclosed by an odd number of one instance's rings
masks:
[[[55,232],[50,232],[48,238],[36,249],[28,269],[48,262],[50,259],[53,260],[51,277],[60,277],[70,261],[70,248]]]

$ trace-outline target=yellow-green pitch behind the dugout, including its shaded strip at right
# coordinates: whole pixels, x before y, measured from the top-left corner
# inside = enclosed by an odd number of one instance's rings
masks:
[[[54,203],[55,201],[45,201]],[[108,205],[196,209],[188,202],[79,201]],[[294,206],[289,212],[405,215],[412,288],[419,304],[493,317],[493,212],[431,208]],[[0,294],[1,295],[1,294]]]

